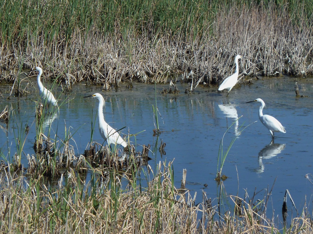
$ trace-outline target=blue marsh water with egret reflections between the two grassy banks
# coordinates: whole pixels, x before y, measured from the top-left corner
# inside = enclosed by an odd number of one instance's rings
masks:
[[[295,97],[295,82],[298,82],[300,95]],[[33,83],[36,84],[35,80]],[[46,86],[47,84],[45,84]],[[143,144],[151,144],[148,161],[152,170],[156,170],[160,161],[173,160],[175,186],[180,187],[182,170],[187,169],[187,189],[193,195],[197,192],[196,203],[202,202],[202,191],[217,204],[219,189],[214,178],[217,173],[219,145],[223,134],[223,149],[226,150],[233,137],[239,134],[231,147],[223,166],[223,174],[228,178],[223,182],[225,195],[244,197],[245,191],[252,196],[254,191],[261,191],[258,199],[263,199],[267,188],[274,184],[270,196],[267,214],[275,215],[281,220],[281,207],[286,189],[295,201],[296,208],[302,210],[305,201],[312,200],[313,185],[305,178],[312,173],[312,110],[313,80],[311,78],[280,77],[253,80],[251,85],[233,88],[230,94],[217,91],[217,87],[198,86],[190,95],[184,91],[187,84],[177,82],[179,94],[161,94],[167,84],[134,83],[133,88],[125,85],[110,91],[101,91],[102,86],[74,85],[70,93],[61,93],[55,88],[59,99],[59,115],[51,116],[53,120],[50,135],[57,134],[58,140],[64,139],[64,132],[71,132],[70,144],[75,154],[84,153],[91,139],[91,128],[95,126],[92,140],[103,143],[98,130],[96,111],[98,101],[83,98],[95,92],[101,93],[106,101],[105,119],[123,134],[136,134],[130,138],[137,150]],[[49,86],[49,83],[48,83]],[[24,154],[34,154],[35,141],[35,100],[38,100],[37,87],[30,87],[28,95],[19,98],[9,96],[8,85],[0,87],[0,109],[12,106],[8,131],[6,124],[0,123],[0,149],[5,160],[12,161],[16,150],[16,138],[25,124],[29,132],[23,147]],[[266,104],[264,114],[275,116],[286,133],[271,135],[258,118],[259,103],[247,101],[262,98]],[[157,103],[159,111],[159,128],[161,134],[153,136],[155,121],[152,105]],[[242,116],[241,118],[239,118]],[[236,121],[239,118],[238,121]],[[257,121],[254,123],[254,121]],[[93,125],[91,124],[93,123]],[[47,124],[48,126],[49,124]],[[46,131],[47,132],[47,129]],[[160,154],[161,142],[166,143],[165,152]],[[9,151],[9,152],[8,152]],[[26,156],[22,163],[27,167]],[[276,180],[276,181],[275,181]],[[274,183],[275,182],[275,183]],[[207,185],[207,186],[204,186]],[[227,197],[226,197],[227,199]],[[255,199],[256,200],[256,199]],[[291,211],[291,203],[287,205]],[[290,214],[290,213],[289,213]]]

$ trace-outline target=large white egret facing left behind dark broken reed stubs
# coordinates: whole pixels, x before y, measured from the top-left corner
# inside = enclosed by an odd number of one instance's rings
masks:
[[[99,106],[98,106],[98,121],[99,121],[99,131],[100,135],[103,139],[106,140],[108,143],[108,146],[110,144],[115,144],[115,145],[121,145],[123,147],[127,146],[127,143],[125,140],[120,136],[120,134],[113,129],[109,124],[107,124],[104,120],[103,116],[103,106],[105,105],[104,98],[101,94],[95,93],[93,95],[88,95],[86,97],[94,97],[99,100]]]

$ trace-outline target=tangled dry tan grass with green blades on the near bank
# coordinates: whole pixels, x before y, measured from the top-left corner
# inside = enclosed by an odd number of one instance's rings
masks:
[[[203,193],[203,202],[173,186],[172,163],[150,171],[147,187],[135,171],[91,170],[90,182],[69,169],[57,180],[10,173],[0,165],[0,230],[3,233],[311,233],[310,214],[278,230],[266,216],[264,203],[230,196],[229,210]],[[151,168],[150,168],[151,169]],[[150,178],[151,179],[148,179]],[[125,187],[123,180],[128,181]],[[199,219],[199,217],[202,217]]]

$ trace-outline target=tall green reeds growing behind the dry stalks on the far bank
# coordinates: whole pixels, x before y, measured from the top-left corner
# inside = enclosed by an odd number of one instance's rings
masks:
[[[260,7],[268,13],[288,7],[291,17],[310,18],[313,4],[310,0],[282,1],[93,1],[83,0],[48,0],[45,4],[37,2],[8,2],[1,4],[1,36],[2,44],[15,41],[36,42],[45,39],[44,43],[53,44],[55,38],[63,36],[64,49],[76,31],[86,35],[90,30],[99,33],[111,33],[116,29],[135,27],[138,32],[153,30],[154,32],[179,33],[184,37],[194,38],[205,32],[218,10],[230,6],[241,8]],[[194,22],[197,22],[195,24]],[[116,25],[117,24],[117,25]],[[116,28],[118,26],[118,28]],[[43,33],[43,34],[42,34]],[[124,35],[126,36],[126,35]],[[35,41],[33,41],[35,39]]]

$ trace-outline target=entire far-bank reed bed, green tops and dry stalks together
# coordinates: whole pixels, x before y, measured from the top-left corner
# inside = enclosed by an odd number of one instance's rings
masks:
[[[0,79],[42,66],[82,80],[217,84],[233,56],[245,75],[313,74],[313,3],[295,1],[0,1]],[[11,71],[11,72],[10,72]]]

